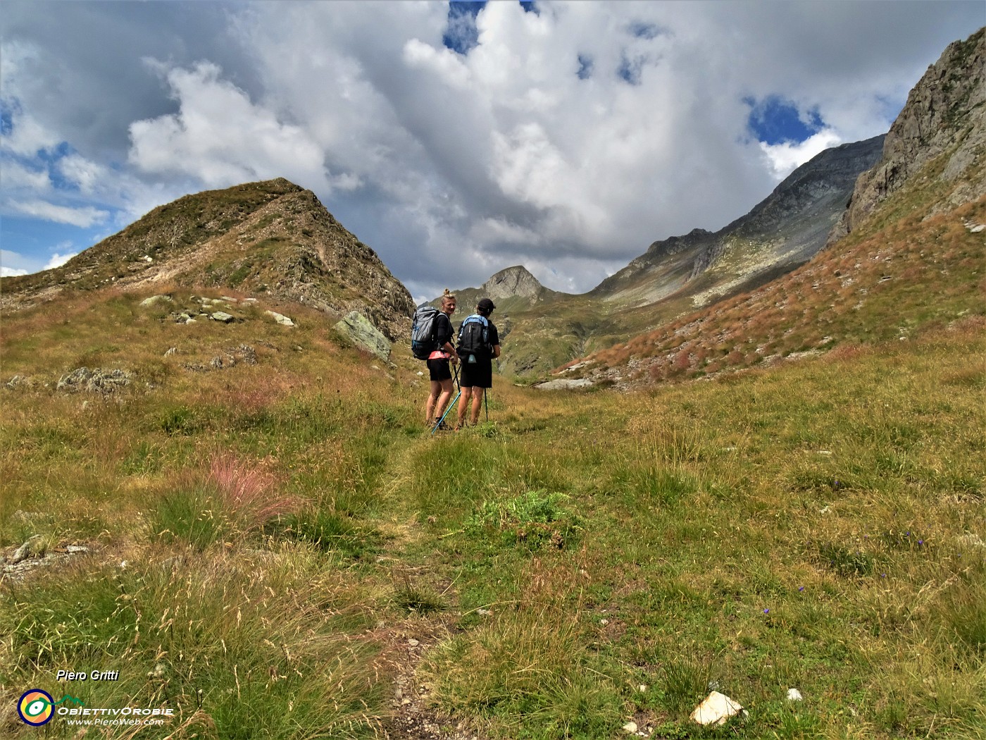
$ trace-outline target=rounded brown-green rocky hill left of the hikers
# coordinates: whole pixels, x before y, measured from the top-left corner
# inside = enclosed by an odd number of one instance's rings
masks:
[[[413,301],[369,247],[315,193],[286,180],[186,195],[61,267],[4,278],[6,311],[66,289],[107,285],[215,287],[359,311],[391,338],[410,325]]]

